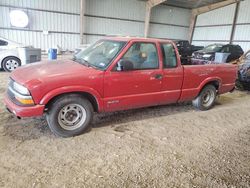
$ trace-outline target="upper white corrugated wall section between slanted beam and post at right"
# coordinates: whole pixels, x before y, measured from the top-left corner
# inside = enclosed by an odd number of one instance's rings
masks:
[[[234,18],[235,4],[215,9],[198,16],[196,26],[232,24]]]

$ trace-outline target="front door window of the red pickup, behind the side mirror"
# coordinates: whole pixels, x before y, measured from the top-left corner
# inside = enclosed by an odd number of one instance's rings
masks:
[[[122,59],[130,61],[133,64],[133,70],[159,68],[157,49],[153,43],[134,43]]]

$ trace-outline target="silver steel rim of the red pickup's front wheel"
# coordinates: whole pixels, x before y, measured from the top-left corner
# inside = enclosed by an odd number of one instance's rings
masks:
[[[86,110],[79,104],[68,104],[58,114],[58,123],[65,130],[75,130],[86,121]]]

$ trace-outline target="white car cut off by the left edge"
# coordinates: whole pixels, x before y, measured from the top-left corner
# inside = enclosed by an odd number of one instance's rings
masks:
[[[11,72],[21,66],[18,47],[23,45],[0,37],[0,69]]]

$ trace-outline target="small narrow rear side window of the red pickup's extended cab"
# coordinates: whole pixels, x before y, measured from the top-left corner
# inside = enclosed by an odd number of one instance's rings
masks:
[[[163,68],[176,68],[177,57],[175,48],[171,43],[161,43]]]

